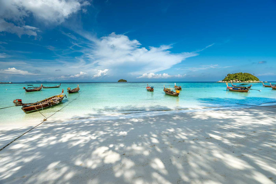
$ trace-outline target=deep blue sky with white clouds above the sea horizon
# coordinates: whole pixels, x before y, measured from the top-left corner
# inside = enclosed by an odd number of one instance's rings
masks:
[[[275,33],[275,0],[0,0],[0,81],[276,81]]]

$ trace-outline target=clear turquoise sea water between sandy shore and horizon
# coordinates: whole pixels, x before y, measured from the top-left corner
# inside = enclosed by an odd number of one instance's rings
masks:
[[[79,84],[80,91],[68,94],[67,87],[71,89]],[[154,92],[146,90],[146,86],[154,86]],[[40,84],[33,84],[40,86]],[[58,83],[44,84],[55,86]],[[23,103],[30,103],[48,98],[52,95],[64,93],[63,103],[52,108],[40,111],[48,117],[61,109],[53,117],[99,117],[117,115],[122,113],[151,113],[166,110],[202,109],[214,107],[233,107],[236,103],[261,105],[276,102],[276,90],[263,88],[262,83],[252,83],[250,93],[226,91],[225,83],[215,82],[178,82],[182,86],[179,97],[165,95],[163,85],[174,86],[174,82],[102,82],[102,83],[62,83],[60,88],[42,89],[42,91],[26,93],[22,87],[24,83],[0,84],[0,108],[12,106],[13,99],[22,99]],[[21,107],[0,109],[0,123],[16,123],[38,121],[44,117],[39,112],[25,114]]]

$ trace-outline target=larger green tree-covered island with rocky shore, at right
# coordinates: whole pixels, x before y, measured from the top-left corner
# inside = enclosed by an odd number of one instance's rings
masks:
[[[227,74],[225,78],[218,82],[263,82],[260,81],[256,76],[250,73],[235,73],[235,74]]]

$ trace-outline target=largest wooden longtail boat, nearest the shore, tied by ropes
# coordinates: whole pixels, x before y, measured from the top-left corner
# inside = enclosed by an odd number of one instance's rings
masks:
[[[35,103],[22,103],[21,99],[15,99],[13,100],[13,104],[15,106],[22,106],[22,110],[25,113],[31,113],[37,110],[43,110],[49,107],[52,107],[54,105],[59,104],[63,98],[66,97],[66,95],[63,93],[63,89],[62,89],[62,93],[54,95],[52,97],[49,98],[45,98],[44,100],[41,101],[37,101]]]

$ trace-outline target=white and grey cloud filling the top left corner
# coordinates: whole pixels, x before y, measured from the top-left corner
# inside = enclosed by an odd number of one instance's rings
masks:
[[[24,19],[33,15],[45,24],[60,24],[90,3],[84,0],[0,0],[0,32],[37,36],[39,29],[25,25]],[[18,25],[11,22],[13,21]]]

